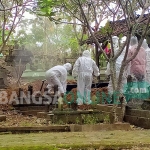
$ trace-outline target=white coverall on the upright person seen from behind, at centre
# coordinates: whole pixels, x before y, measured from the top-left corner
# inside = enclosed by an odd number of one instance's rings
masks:
[[[72,76],[78,77],[77,79],[77,104],[91,104],[91,85],[93,80],[93,73],[99,76],[99,68],[95,61],[91,59],[91,54],[85,50],[82,57],[79,57],[72,70]]]

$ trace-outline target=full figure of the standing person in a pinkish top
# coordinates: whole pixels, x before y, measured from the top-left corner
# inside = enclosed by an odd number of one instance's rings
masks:
[[[138,40],[135,36],[132,36],[127,59],[130,59],[135,54],[137,47]],[[131,93],[128,106],[137,109],[141,107],[146,93],[146,84],[144,82],[146,77],[146,52],[142,46],[135,58],[126,66],[126,70],[128,72],[128,81],[130,81],[128,84],[128,91]]]

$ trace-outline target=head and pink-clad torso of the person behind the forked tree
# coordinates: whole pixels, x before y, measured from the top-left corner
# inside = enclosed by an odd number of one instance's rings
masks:
[[[131,37],[130,48],[127,58],[130,58],[132,55],[134,55],[137,46],[137,38]],[[143,47],[140,47],[138,54],[133,60],[130,61],[128,67],[130,75],[133,75],[138,82],[144,81],[146,75],[146,52]]]

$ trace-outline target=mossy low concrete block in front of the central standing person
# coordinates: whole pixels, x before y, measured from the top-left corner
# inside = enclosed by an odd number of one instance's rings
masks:
[[[98,110],[89,111],[52,111],[47,114],[47,121],[54,124],[96,124],[104,122],[106,116]]]

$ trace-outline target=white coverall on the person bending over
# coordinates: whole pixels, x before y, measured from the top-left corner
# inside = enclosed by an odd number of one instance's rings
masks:
[[[72,65],[66,63],[63,66],[58,65],[46,71],[45,77],[48,82],[48,92],[52,90],[54,85],[58,85],[58,95],[66,92],[67,71],[71,70]]]

